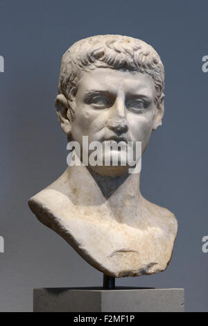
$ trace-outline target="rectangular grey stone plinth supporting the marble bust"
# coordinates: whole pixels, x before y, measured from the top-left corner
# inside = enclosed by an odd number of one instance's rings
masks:
[[[34,289],[34,312],[183,312],[184,289]]]

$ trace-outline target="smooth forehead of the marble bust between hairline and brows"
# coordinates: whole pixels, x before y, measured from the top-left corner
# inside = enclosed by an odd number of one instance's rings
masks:
[[[155,96],[153,78],[148,74],[127,69],[96,68],[85,71],[78,82],[78,94],[85,94],[92,90],[103,90],[118,94],[123,91],[129,94],[142,93]]]

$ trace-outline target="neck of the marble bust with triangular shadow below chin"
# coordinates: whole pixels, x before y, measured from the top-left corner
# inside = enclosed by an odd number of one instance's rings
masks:
[[[86,166],[69,166],[67,169],[73,203],[77,206],[103,207],[119,221],[138,216],[141,206],[140,173],[103,176]]]

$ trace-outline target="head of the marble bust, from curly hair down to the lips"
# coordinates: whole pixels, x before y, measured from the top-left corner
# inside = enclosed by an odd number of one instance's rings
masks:
[[[141,141],[144,153],[164,114],[164,66],[152,46],[96,35],[62,57],[56,112],[68,139]],[[125,171],[126,168],[123,168]]]

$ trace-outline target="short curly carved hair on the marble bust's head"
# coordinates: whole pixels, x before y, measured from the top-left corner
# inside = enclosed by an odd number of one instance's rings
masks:
[[[59,94],[69,102],[73,101],[84,71],[107,67],[150,75],[155,84],[155,101],[158,102],[164,89],[164,65],[159,55],[146,42],[122,35],[96,35],[70,46],[62,56]]]

